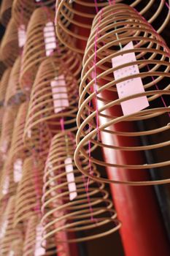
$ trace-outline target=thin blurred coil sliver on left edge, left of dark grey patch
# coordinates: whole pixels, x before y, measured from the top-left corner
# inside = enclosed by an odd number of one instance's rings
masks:
[[[0,81],[0,105],[4,105],[4,99],[7,91],[7,86],[9,83],[10,72],[11,72],[11,67],[5,70]]]

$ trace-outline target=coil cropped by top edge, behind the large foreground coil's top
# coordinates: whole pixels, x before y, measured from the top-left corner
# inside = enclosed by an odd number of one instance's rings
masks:
[[[119,2],[126,4],[127,1],[111,0],[110,5],[115,5]],[[153,0],[144,4],[142,3],[143,7],[141,7],[141,3],[142,0],[134,0],[132,1],[131,6],[136,8],[144,18],[148,18],[148,21],[154,23],[155,26],[160,24],[160,16],[163,15],[163,23],[157,28],[159,33],[163,31],[169,23],[170,17],[170,10],[166,6],[166,0]],[[60,39],[61,42],[63,42],[63,45],[66,45],[68,48],[84,54],[93,18],[95,17],[96,12],[107,5],[109,5],[109,1],[107,0],[98,0],[96,3],[95,1],[75,0],[72,4],[69,0],[58,0],[56,2],[57,15],[55,20],[58,39]],[[77,39],[77,45],[70,45],[68,37],[70,37],[70,39]]]

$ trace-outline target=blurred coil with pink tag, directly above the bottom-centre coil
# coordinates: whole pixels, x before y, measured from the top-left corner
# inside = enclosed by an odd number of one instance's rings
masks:
[[[77,80],[62,62],[54,57],[43,61],[36,74],[26,120],[25,136],[28,131],[47,123],[50,131],[75,130],[78,105]]]

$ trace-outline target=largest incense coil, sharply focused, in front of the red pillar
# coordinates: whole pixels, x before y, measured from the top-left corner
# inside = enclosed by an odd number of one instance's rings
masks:
[[[98,25],[98,20],[101,23]],[[98,29],[96,29],[98,27]],[[96,30],[98,30],[98,35],[96,38]],[[129,44],[133,45],[130,47]],[[123,47],[126,46],[126,50]],[[122,50],[120,50],[120,47]],[[94,48],[96,48],[96,53]],[[125,64],[117,64],[112,67],[112,63],[115,64],[115,57],[121,58],[123,53],[134,53],[136,55],[136,61],[129,62],[126,60]],[[95,58],[96,54],[96,58]],[[98,12],[96,18],[93,21],[93,26],[91,29],[91,34],[88,40],[87,48],[85,50],[85,57],[83,60],[82,69],[82,83],[80,85],[80,102],[79,111],[77,113],[77,149],[75,152],[75,162],[77,167],[85,175],[94,178],[96,181],[104,181],[107,183],[122,183],[131,185],[148,185],[148,184],[163,184],[169,182],[169,178],[165,180],[158,181],[116,181],[109,180],[107,178],[97,178],[90,175],[89,171],[85,170],[80,162],[80,157],[83,155],[83,159],[89,159],[89,154],[86,151],[85,145],[90,141],[90,145],[94,145],[99,148],[109,148],[109,154],[115,155],[116,151],[145,151],[152,150],[155,148],[160,148],[160,150],[166,151],[167,146],[169,146],[169,141],[163,141],[158,144],[150,144],[147,146],[119,146],[116,143],[116,136],[118,138],[140,138],[144,135],[161,135],[161,132],[169,132],[169,121],[164,121],[163,126],[160,127],[157,121],[155,121],[155,126],[144,130],[141,132],[131,132],[128,129],[117,129],[117,124],[127,124],[127,121],[134,121],[136,124],[139,120],[156,120],[158,116],[167,116],[169,112],[169,107],[166,107],[162,102],[162,97],[169,97],[170,86],[169,86],[169,48],[167,48],[165,42],[155,31],[153,31],[152,26],[147,23],[138,12],[136,12],[131,7],[124,4],[117,4],[116,7],[105,7],[103,12]],[[128,57],[126,57],[128,58]],[[94,64],[94,59],[96,59],[96,65]],[[134,65],[134,66],[133,66]],[[134,73],[134,67],[138,65],[139,72]],[[125,68],[126,69],[123,69]],[[132,72],[129,72],[133,67]],[[125,70],[125,71],[124,71]],[[96,78],[95,78],[96,72]],[[122,72],[120,78],[117,78],[116,72]],[[129,75],[124,75],[123,72],[128,72]],[[114,78],[115,77],[115,78]],[[141,93],[134,94],[128,93],[127,97],[117,96],[117,83],[122,86],[121,82],[125,83],[127,86],[127,81],[133,81],[134,78],[142,79],[142,91]],[[123,86],[124,86],[123,83]],[[139,83],[139,80],[138,82]],[[96,84],[96,86],[95,86]],[[143,90],[144,86],[144,90]],[[93,91],[90,91],[90,87],[93,87]],[[120,95],[120,94],[119,94]],[[127,94],[126,94],[127,95]],[[122,110],[120,108],[123,102],[128,99],[140,100],[140,97],[144,98],[149,102],[149,107],[143,110],[136,110],[130,114],[125,114],[123,116]],[[93,101],[93,105],[98,105],[98,110],[90,106],[90,101]],[[147,102],[147,103],[148,103]],[[161,105],[162,107],[158,107]],[[135,107],[135,104],[134,104]],[[133,107],[133,108],[134,108]],[[130,107],[127,107],[130,108]],[[85,113],[87,113],[86,115]],[[93,126],[92,120],[96,125]],[[125,123],[123,123],[125,121]],[[101,122],[98,124],[97,122]],[[88,132],[86,127],[90,126],[91,132]],[[104,135],[109,136],[112,134],[115,136],[114,145],[112,140],[107,143],[99,141],[98,132],[101,138]],[[169,136],[169,135],[167,135]],[[93,138],[92,138],[93,137]],[[96,138],[95,138],[96,137]],[[167,137],[168,138],[168,137]],[[125,142],[125,140],[124,140]],[[134,165],[130,162],[117,163],[114,160],[112,162],[102,161],[97,158],[97,155],[92,155],[90,161],[96,163],[96,165],[109,166],[131,169],[137,172],[137,170],[142,169],[147,172],[147,168],[155,167],[165,167],[169,166],[170,161],[155,162],[146,165]]]

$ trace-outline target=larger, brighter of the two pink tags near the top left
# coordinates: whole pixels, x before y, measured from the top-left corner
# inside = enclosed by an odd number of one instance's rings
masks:
[[[48,22],[45,25],[44,37],[45,37],[46,56],[50,56],[50,54],[53,53],[53,50],[57,47],[56,37],[55,37],[55,28],[52,21]]]

